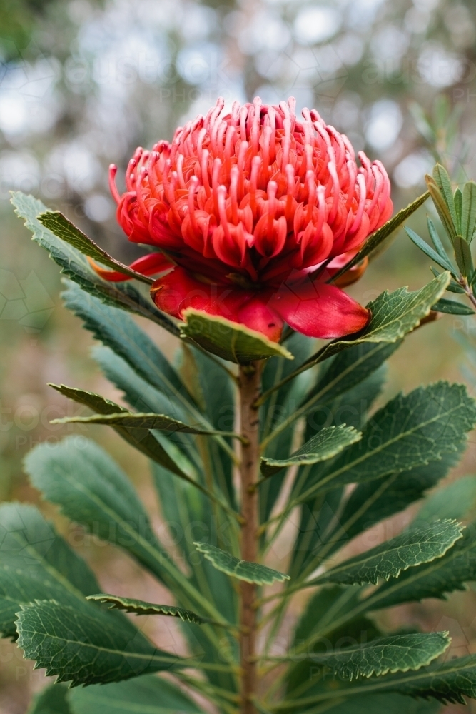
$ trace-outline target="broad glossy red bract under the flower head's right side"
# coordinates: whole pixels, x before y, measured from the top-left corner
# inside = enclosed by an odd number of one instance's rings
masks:
[[[321,339],[358,332],[370,313],[333,285],[304,281],[283,283],[270,300],[272,307],[294,330]]]

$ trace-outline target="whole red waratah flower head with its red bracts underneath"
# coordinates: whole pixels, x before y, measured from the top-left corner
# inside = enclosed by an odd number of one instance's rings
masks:
[[[360,152],[358,166],[348,138],[314,109],[299,120],[293,98],[236,102],[224,115],[223,104],[179,127],[171,144],[137,149],[122,196],[111,166],[123,230],[160,251],[133,267],[169,269],[151,294],[177,318],[193,307],[273,341],[284,322],[319,338],[359,331],[368,311],[326,281],[390,218],[383,165]]]

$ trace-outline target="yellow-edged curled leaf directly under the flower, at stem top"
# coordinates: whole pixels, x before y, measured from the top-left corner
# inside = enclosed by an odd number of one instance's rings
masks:
[[[278,356],[293,359],[293,355],[277,342],[271,342],[260,332],[231,322],[224,317],[208,315],[200,310],[183,311],[181,336],[188,337],[208,352],[238,364]]]

